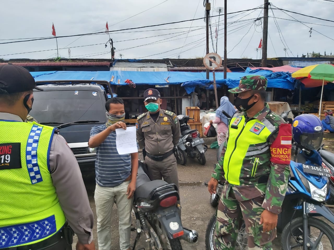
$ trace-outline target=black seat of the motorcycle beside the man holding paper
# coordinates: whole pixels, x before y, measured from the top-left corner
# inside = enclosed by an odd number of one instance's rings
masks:
[[[138,183],[139,179],[142,179],[142,175],[137,177],[137,183]],[[144,176],[143,176],[143,180],[139,180],[139,183],[138,183],[137,188],[135,190],[135,200],[138,199],[138,198],[143,198],[143,199],[150,200],[151,199],[150,194],[152,193],[153,190],[155,190],[156,188],[158,188],[162,185],[167,184],[167,182],[165,182],[163,180],[154,180],[154,181],[144,182],[145,181],[144,179],[147,180]],[[148,179],[148,180],[150,180],[150,179]]]

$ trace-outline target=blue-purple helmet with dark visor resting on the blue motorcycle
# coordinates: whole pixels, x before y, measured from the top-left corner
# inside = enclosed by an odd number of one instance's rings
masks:
[[[292,126],[292,138],[299,145],[317,150],[321,146],[324,128],[318,117],[311,114],[296,116]]]

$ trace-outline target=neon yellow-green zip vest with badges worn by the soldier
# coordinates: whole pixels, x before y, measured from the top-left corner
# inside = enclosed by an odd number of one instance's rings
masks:
[[[234,185],[258,184],[259,178],[270,171],[267,139],[276,127],[266,118],[263,122],[246,119],[237,113],[229,124],[223,169],[225,179]]]

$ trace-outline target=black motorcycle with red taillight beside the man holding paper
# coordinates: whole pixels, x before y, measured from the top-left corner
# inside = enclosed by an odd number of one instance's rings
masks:
[[[182,250],[180,239],[196,243],[198,233],[182,226],[179,215],[181,206],[175,184],[163,180],[151,181],[147,165],[139,160],[136,191],[132,215],[136,219],[137,233],[134,246],[142,234],[150,250]]]

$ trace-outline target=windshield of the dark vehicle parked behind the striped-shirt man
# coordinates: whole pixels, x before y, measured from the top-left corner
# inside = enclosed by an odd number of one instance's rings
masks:
[[[29,113],[40,123],[80,120],[106,121],[104,97],[92,90],[35,91]]]

